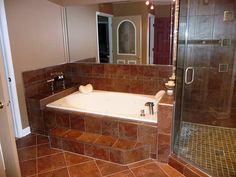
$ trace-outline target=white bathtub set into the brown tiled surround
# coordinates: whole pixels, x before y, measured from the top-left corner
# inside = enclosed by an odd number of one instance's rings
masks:
[[[157,104],[163,94],[155,97],[100,90],[88,94],[75,92],[48,104],[47,107],[156,123]],[[149,114],[146,102],[154,103],[154,115]],[[145,116],[140,116],[141,110],[145,111]]]

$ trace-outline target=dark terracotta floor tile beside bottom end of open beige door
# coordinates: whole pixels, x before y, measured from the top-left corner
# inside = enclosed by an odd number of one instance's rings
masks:
[[[22,177],[31,176],[36,174],[36,160],[28,160],[20,162]]]

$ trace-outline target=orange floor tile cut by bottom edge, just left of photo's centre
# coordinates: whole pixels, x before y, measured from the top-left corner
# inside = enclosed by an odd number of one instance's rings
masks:
[[[101,177],[94,161],[68,167],[70,177]]]

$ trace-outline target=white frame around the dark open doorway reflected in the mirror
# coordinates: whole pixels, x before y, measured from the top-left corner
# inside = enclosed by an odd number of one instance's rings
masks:
[[[98,16],[108,17],[108,31],[109,31],[109,63],[113,63],[113,48],[112,48],[112,18],[113,15],[103,13],[103,12],[96,12],[96,34],[97,34],[97,61],[100,63],[100,56],[99,56],[99,36],[98,36]]]

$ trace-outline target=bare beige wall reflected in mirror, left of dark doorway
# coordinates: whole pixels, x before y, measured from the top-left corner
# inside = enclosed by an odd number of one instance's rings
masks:
[[[67,11],[70,61],[97,57],[97,5],[69,6]]]

